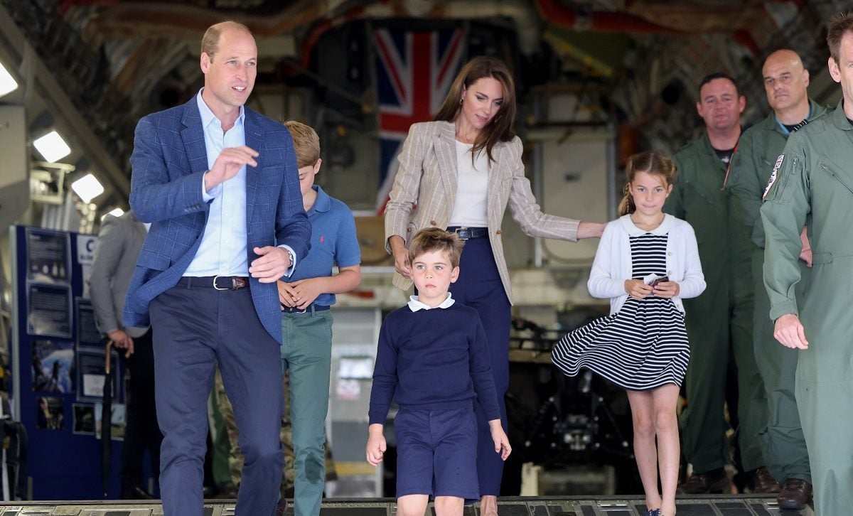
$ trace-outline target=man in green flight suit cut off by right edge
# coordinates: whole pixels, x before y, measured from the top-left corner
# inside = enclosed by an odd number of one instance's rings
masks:
[[[853,14],[833,17],[827,43],[829,73],[841,84],[842,101],[788,138],[761,217],[774,336],[799,350],[795,392],[815,513],[839,516],[853,512]],[[804,224],[813,268],[798,303]]]

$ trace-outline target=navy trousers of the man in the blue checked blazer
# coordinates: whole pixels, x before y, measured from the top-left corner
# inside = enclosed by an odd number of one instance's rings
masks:
[[[235,514],[271,516],[284,465],[281,350],[252,294],[178,284],[152,301],[150,314],[165,515],[202,516],[207,398],[218,362],[246,457]]]

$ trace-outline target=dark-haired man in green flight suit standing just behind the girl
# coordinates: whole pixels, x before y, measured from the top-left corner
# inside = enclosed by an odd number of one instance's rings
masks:
[[[776,492],[779,484],[764,467],[758,433],[767,422],[767,401],[752,346],[752,288],[734,274],[734,258],[749,258],[743,249],[746,229],[732,231],[728,194],[723,180],[740,137],[740,113],[746,99],[734,79],[714,73],[699,85],[696,109],[705,120],[705,135],[673,156],[678,172],[664,212],[686,220],[696,232],[699,259],[708,287],[684,300],[690,339],[686,378],[688,408],[684,413],[684,455],[693,474],[679,491],[705,494],[728,490],[724,466],[730,461],[724,419],[729,349],[738,370],[737,429],[743,467],[753,492]],[[740,250],[740,251],[739,251]]]

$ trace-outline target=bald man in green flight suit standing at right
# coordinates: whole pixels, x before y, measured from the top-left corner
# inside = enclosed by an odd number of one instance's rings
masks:
[[[770,301],[764,288],[764,227],[761,223],[761,200],[770,171],[788,135],[826,111],[809,101],[809,71],[796,52],[776,50],[768,55],[762,68],[764,90],[773,113],[753,125],[740,136],[737,152],[726,188],[731,192],[730,223],[750,231],[751,270],[737,274],[740,281],[751,278],[755,293],[753,339],[755,358],[767,392],[769,419],[764,437],[764,460],[774,478],[784,479],[777,496],[779,507],[800,509],[811,500],[811,470],[803,427],[794,398],[794,377],[798,352],[780,346],[773,338],[773,321],[768,312]],[[804,229],[805,231],[805,229]],[[803,232],[803,252],[799,262],[803,278],[796,287],[797,299],[803,299],[808,267],[811,266],[809,241]]]

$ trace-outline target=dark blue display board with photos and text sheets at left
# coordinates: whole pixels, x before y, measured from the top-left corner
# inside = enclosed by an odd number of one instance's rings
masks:
[[[33,500],[101,500],[106,351],[88,271],[97,237],[13,226],[15,419],[29,437]],[[125,434],[124,364],[111,353],[109,498],[119,496]]]

